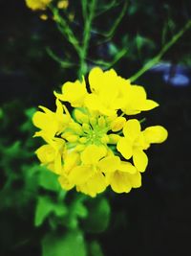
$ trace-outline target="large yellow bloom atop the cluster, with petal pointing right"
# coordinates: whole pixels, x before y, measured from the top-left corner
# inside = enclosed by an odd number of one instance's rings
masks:
[[[142,86],[131,85],[129,80],[117,76],[113,69],[103,72],[94,68],[89,82],[92,93],[86,97],[85,105],[101,114],[114,115],[117,109],[121,109],[125,114],[132,115],[158,106],[156,102],[146,99]]]

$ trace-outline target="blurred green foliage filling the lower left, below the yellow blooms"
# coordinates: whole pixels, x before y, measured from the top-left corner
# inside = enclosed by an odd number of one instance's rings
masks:
[[[13,108],[15,108],[14,104],[2,107],[0,129],[12,128],[12,122],[15,121],[11,115],[9,122],[5,119],[8,116],[8,109],[11,111]],[[34,108],[27,109],[24,116],[21,112],[20,119],[18,116],[18,120],[21,121],[18,121],[17,132],[21,139],[12,138],[8,141],[0,138],[2,159],[0,167],[3,170],[1,175],[4,175],[1,178],[3,188],[0,191],[0,213],[4,213],[7,209],[14,212],[18,226],[22,226],[23,216],[30,217],[31,228],[34,225],[35,228],[42,230],[37,243],[42,245],[43,256],[89,256],[88,251],[93,256],[102,256],[101,252],[99,253],[101,248],[98,242],[92,244],[90,241],[90,246],[86,243],[83,231],[86,228],[83,224],[87,220],[94,232],[104,231],[109,220],[109,204],[101,197],[97,200],[76,192],[68,194],[61,189],[57,175],[40,166],[34,154],[40,142],[32,138],[34,110]],[[96,218],[103,218],[104,221],[96,221]],[[11,241],[14,239],[11,236],[7,243],[13,244],[12,247],[16,248],[24,246],[30,239],[24,240],[23,237],[25,236],[21,233],[18,241],[14,242]],[[3,248],[7,248],[8,244]]]

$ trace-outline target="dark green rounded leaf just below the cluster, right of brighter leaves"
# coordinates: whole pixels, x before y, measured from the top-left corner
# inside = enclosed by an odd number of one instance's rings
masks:
[[[87,208],[89,215],[86,221],[83,222],[87,232],[100,233],[103,232],[110,221],[110,205],[106,198],[96,198],[89,201]]]

